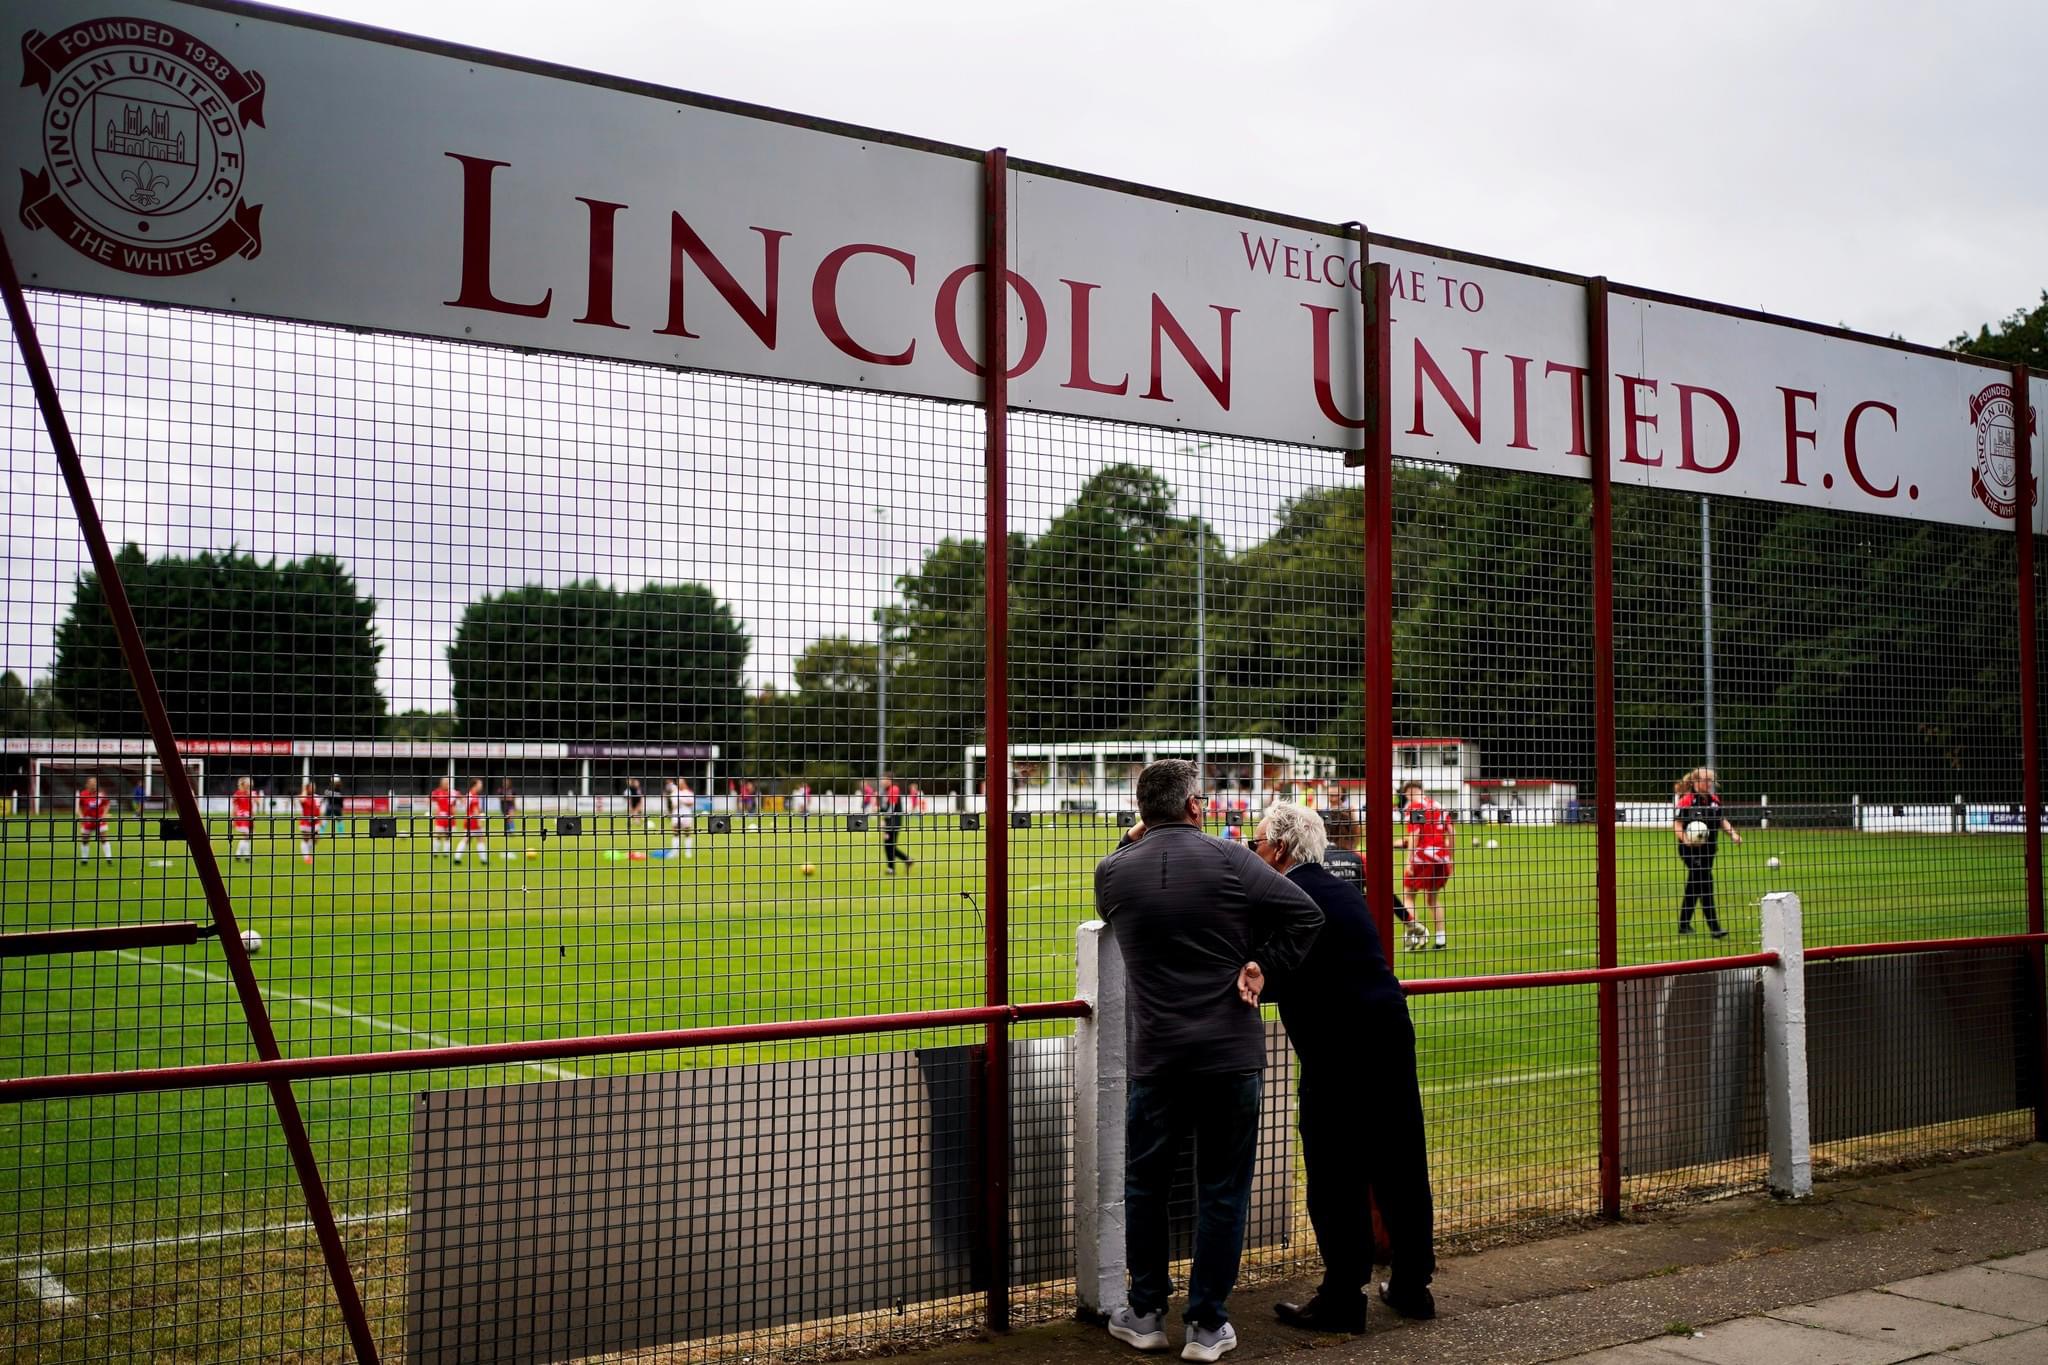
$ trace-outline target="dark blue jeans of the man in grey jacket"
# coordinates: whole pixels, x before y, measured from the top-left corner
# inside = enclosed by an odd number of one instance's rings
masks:
[[[1124,1259],[1130,1263],[1130,1312],[1165,1312],[1167,1199],[1180,1152],[1194,1138],[1194,1267],[1188,1312],[1196,1326],[1231,1320],[1225,1300],[1237,1285],[1251,1209],[1251,1166],[1260,1146],[1260,1095],[1266,1074],[1239,1070],[1206,1076],[1133,1076],[1124,1107]]]

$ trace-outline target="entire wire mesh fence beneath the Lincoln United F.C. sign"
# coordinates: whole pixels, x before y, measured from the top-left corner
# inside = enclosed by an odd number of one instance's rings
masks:
[[[1397,469],[1380,700],[1360,684],[1368,528],[1339,454],[1012,415],[999,765],[979,409],[35,309],[285,1056],[981,1005],[997,831],[1010,997],[1063,1001],[1094,866],[1167,755],[1198,759],[1219,837],[1298,800],[1339,847],[1399,841],[1397,886],[1368,894],[1413,913],[1389,945],[1405,978],[1597,962],[1581,483]],[[209,923],[14,364],[4,405],[4,929]],[[2025,929],[2013,546],[1640,489],[1614,508],[1622,960],[1751,952],[1767,890],[1800,892],[1810,941]],[[1384,829],[1354,814],[1368,702],[1395,716]],[[1702,765],[1718,788],[1673,792]],[[256,1056],[213,941],[0,972],[8,1076]],[[1620,1064],[1665,1074],[1642,1134],[1733,1136],[1645,1156],[1630,1201],[1761,1179],[1737,1140],[1749,976],[1700,980],[1657,997]],[[2040,1007],[2028,990],[2015,1011]],[[1599,1212],[1595,990],[1438,995],[1413,1017],[1440,1232]],[[846,1355],[983,1312],[977,1040],[610,1054],[299,1099],[391,1359],[498,1330],[504,1359]],[[1067,1027],[1010,1042],[1012,1312],[1055,1316],[1075,1306]],[[1946,1056],[1884,1060],[1929,1103],[1829,1158],[1954,1146]],[[1962,1119],[1966,1138],[2023,1136],[2034,1095]],[[1858,1130],[1896,1117],[1847,1109]],[[8,1105],[0,1148],[18,1285],[0,1340],[31,1359],[346,1338],[262,1091]],[[1257,1275],[1311,1263],[1290,1199]],[[768,1236],[797,1228],[862,1250],[811,1267],[815,1246]]]

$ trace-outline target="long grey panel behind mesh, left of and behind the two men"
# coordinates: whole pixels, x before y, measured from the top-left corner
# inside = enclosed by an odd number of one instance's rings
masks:
[[[977,1052],[418,1095],[406,1359],[559,1361],[973,1291]],[[1292,1230],[1278,1023],[1268,1056],[1247,1246]],[[1069,1038],[1012,1044],[1012,1279],[1063,1279]]]

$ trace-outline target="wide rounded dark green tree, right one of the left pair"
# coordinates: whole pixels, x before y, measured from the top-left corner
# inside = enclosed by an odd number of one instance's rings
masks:
[[[733,745],[748,647],[700,583],[514,587],[471,602],[457,626],[457,724],[471,739]]]

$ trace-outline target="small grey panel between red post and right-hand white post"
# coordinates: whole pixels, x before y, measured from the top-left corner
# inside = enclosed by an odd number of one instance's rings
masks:
[[[1624,980],[1622,1173],[1765,1150],[1763,990],[1755,972]]]

